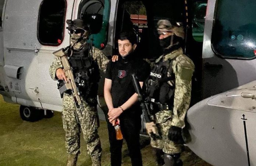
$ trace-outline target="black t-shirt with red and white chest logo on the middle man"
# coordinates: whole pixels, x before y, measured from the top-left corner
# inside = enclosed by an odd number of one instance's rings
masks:
[[[132,74],[136,74],[139,82],[144,82],[149,76],[149,72],[150,65],[142,59],[109,61],[107,64],[106,78],[112,80],[111,96],[115,108],[121,106],[135,93]],[[138,109],[139,103],[136,103],[129,109],[129,112],[136,110],[138,112]],[[141,114],[141,111],[138,113]]]

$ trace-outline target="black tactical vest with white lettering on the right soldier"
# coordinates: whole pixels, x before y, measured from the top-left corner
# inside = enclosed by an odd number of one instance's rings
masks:
[[[175,90],[175,75],[173,73],[173,60],[162,61],[154,64],[150,71],[149,78],[145,82],[147,102],[153,104],[155,112],[161,110],[160,106],[173,107],[174,90]],[[168,76],[168,72],[170,76]],[[168,84],[168,81],[173,82],[173,86]],[[164,108],[162,108],[164,109]]]

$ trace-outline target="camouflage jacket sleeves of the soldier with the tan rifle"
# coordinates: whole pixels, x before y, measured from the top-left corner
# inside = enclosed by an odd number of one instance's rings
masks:
[[[95,47],[93,47],[92,50],[90,51],[92,51],[92,58],[93,60],[97,61],[97,64],[99,65],[99,69],[102,70],[103,72],[106,72],[106,66],[107,66],[107,63],[109,62],[109,59],[107,59],[107,57],[102,52],[102,50],[99,50]],[[57,80],[56,70],[58,68],[63,68],[63,65],[61,64],[60,57],[56,56],[49,69],[49,74],[51,76],[51,79]]]

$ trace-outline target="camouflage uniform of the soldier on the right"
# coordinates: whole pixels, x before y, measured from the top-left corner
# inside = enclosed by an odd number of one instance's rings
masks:
[[[183,54],[182,48],[174,50],[165,56],[160,56],[156,60],[156,63],[160,60],[173,60],[170,67],[175,74],[174,108],[173,110],[162,110],[154,115],[154,120],[162,139],[153,140],[151,138],[150,144],[152,147],[163,149],[163,152],[166,154],[177,154],[181,153],[182,144],[177,144],[169,140],[168,131],[171,126],[185,127],[184,119],[191,99],[191,78],[194,71],[194,64],[191,59]],[[167,76],[170,75],[171,73],[168,72]],[[171,86],[174,84],[172,81],[168,81],[167,83]]]

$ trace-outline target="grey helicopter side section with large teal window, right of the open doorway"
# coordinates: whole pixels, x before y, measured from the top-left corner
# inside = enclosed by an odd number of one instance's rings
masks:
[[[256,79],[254,0],[208,1],[203,42],[203,98]]]

